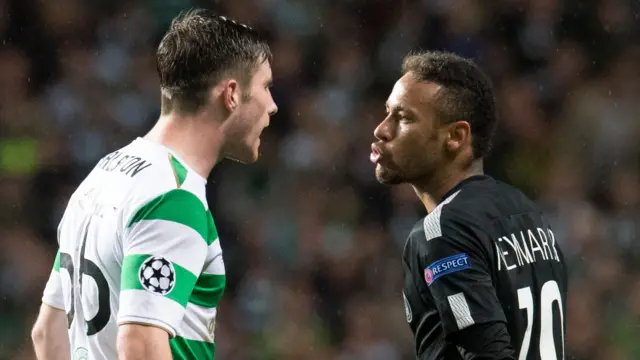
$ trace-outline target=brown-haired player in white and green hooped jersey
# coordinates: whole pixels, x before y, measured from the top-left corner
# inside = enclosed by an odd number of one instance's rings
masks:
[[[271,51],[204,10],[157,50],[162,112],[74,192],[32,331],[40,360],[214,359],[225,268],[205,196],[224,158],[251,163],[277,111]]]

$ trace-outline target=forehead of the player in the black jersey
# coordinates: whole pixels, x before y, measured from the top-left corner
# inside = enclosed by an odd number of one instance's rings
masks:
[[[438,84],[417,80],[407,73],[396,81],[387,98],[387,111],[419,112],[431,107],[431,101],[438,92]]]

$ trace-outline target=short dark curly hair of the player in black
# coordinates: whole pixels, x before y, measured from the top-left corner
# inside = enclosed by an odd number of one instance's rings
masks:
[[[409,72],[420,81],[442,86],[433,104],[438,119],[442,124],[468,121],[474,158],[485,157],[491,150],[497,122],[489,77],[473,61],[439,51],[409,54],[403,61],[402,73]]]

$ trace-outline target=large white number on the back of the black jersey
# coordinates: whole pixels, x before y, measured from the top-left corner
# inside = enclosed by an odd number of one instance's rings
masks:
[[[560,288],[558,283],[551,280],[542,285],[540,289],[540,359],[542,360],[557,360],[556,345],[553,339],[553,303],[558,303],[558,309],[560,309],[560,328],[564,329],[564,320],[562,315],[562,297],[560,296]],[[522,339],[522,346],[520,347],[520,356],[518,360],[526,360],[529,353],[529,345],[531,345],[531,330],[533,329],[533,319],[535,306],[533,303],[533,295],[531,294],[531,287],[518,289],[518,303],[520,309],[527,311],[527,329],[524,333],[524,339]],[[562,358],[564,359],[564,331],[561,330],[562,337]]]

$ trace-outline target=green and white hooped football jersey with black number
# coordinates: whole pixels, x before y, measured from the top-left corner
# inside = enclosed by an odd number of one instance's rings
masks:
[[[167,330],[174,359],[214,359],[225,270],[205,185],[169,149],[141,138],[80,184],[42,299],[67,313],[73,360],[117,359],[123,323]]]

